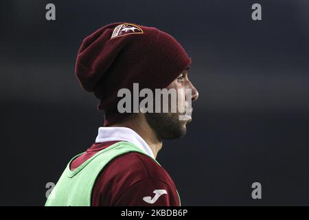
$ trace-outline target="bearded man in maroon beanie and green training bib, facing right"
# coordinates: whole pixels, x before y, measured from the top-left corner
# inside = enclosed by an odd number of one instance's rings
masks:
[[[180,206],[174,181],[155,158],[162,140],[183,137],[191,121],[187,103],[198,91],[187,78],[190,63],[183,47],[157,28],[113,23],[84,39],[76,76],[100,100],[104,127],[95,143],[69,162],[46,206]],[[191,96],[177,94],[185,111],[170,111],[169,100],[168,112],[120,112],[119,91],[134,94],[136,84],[148,91],[187,89]],[[134,100],[127,104],[136,106]],[[166,103],[160,98],[160,104]]]

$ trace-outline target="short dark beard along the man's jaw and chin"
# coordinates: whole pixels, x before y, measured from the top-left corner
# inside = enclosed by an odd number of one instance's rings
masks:
[[[176,139],[185,136],[187,121],[179,120],[179,113],[145,113],[150,127],[161,139]]]

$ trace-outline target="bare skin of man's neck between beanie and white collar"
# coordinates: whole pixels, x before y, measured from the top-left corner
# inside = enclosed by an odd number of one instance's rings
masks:
[[[158,152],[162,148],[162,140],[157,136],[157,133],[149,126],[145,116],[141,113],[129,115],[121,122],[115,122],[111,126],[124,126],[132,129],[144,139],[144,141],[150,146],[152,153],[157,158]]]

